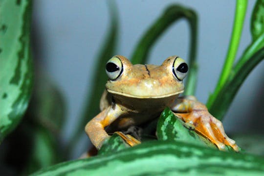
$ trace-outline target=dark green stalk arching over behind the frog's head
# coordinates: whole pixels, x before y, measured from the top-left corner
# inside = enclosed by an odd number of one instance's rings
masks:
[[[191,41],[189,50],[189,76],[186,82],[186,95],[194,95],[196,89],[196,52],[197,52],[197,15],[192,9],[185,8],[180,5],[171,5],[165,9],[164,13],[154,22],[146,31],[136,48],[132,52],[132,64],[145,64],[147,62],[149,52],[154,46],[157,39],[179,19],[186,19],[190,25]]]

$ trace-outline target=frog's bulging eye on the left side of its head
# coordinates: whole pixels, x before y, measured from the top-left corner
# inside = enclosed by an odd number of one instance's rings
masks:
[[[117,79],[123,73],[123,64],[118,57],[112,57],[106,64],[106,73],[111,80]]]

